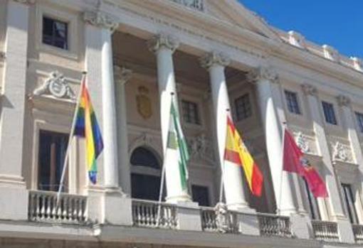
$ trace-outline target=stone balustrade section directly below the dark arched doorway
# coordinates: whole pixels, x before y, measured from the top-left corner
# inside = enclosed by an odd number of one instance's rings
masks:
[[[149,201],[132,200],[132,220],[137,227],[177,227],[176,205]]]

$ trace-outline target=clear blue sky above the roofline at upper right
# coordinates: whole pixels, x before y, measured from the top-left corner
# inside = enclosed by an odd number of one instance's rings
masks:
[[[238,0],[284,31],[331,45],[343,55],[363,58],[362,0]]]

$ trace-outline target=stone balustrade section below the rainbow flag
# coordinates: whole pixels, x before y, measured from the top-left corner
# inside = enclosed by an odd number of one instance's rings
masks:
[[[83,195],[61,193],[57,204],[57,193],[51,191],[29,191],[28,219],[41,222],[66,222],[84,224],[87,198]]]

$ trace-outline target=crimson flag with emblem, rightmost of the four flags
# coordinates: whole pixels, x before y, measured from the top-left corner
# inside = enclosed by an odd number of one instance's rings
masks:
[[[302,153],[293,136],[286,129],[283,142],[283,171],[298,173],[302,178],[305,178],[315,198],[327,198],[325,182],[307,158],[304,158],[304,153]]]

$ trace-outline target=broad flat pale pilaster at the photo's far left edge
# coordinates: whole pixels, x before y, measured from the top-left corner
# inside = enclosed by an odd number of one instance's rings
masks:
[[[26,220],[28,194],[22,168],[28,18],[33,1],[8,1],[4,61],[4,88],[0,122],[0,219]]]

